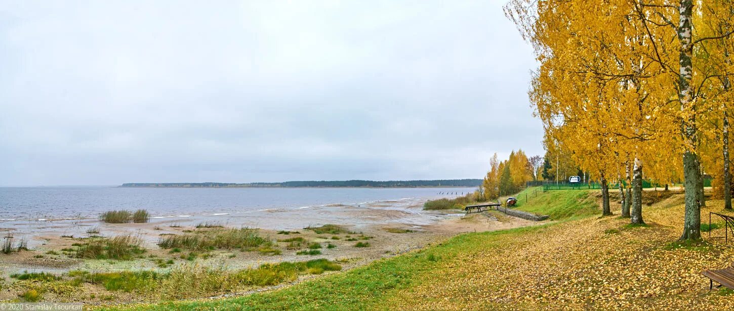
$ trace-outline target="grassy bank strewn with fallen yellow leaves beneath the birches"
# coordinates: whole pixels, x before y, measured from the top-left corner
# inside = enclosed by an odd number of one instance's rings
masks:
[[[406,255],[288,288],[232,299],[128,306],[141,310],[702,309],[730,308],[731,290],[708,290],[705,268],[734,249],[675,244],[682,195],[644,207],[647,227],[597,217],[597,191],[549,191],[525,208],[556,215],[536,227],[466,233]],[[544,203],[545,202],[545,203]],[[564,204],[559,202],[565,202]],[[708,211],[721,211],[711,200]],[[570,206],[570,207],[569,207]],[[619,213],[619,204],[613,205]],[[584,217],[586,215],[586,217]],[[707,217],[708,218],[708,217]],[[723,229],[713,235],[722,235]]]

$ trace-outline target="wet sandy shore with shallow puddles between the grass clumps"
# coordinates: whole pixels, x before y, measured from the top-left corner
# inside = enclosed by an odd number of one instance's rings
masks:
[[[206,257],[195,260],[197,265],[213,268],[239,270],[253,268],[263,263],[297,262],[314,258],[337,260],[344,269],[362,266],[383,257],[399,255],[420,249],[426,245],[464,232],[501,230],[537,224],[517,219],[502,213],[474,213],[462,211],[423,211],[424,200],[396,200],[370,202],[358,205],[327,205],[301,208],[298,211],[270,209],[258,213],[231,213],[220,215],[198,215],[153,218],[148,223],[106,224],[98,219],[57,219],[45,221],[23,221],[8,224],[0,229],[13,239],[23,238],[28,242],[28,251],[0,255],[4,276],[23,271],[63,274],[68,271],[165,271],[159,266],[161,258],[173,264],[189,264],[190,260],[171,254],[170,249],[161,249],[156,244],[165,235],[182,235],[208,230],[202,224],[223,227],[257,228],[258,233],[275,242],[279,255],[264,255],[240,249],[216,249]],[[349,233],[341,235],[317,234],[306,227],[338,224]],[[200,228],[197,228],[197,225]],[[289,234],[283,234],[288,232]],[[68,250],[74,244],[92,235],[114,237],[134,235],[142,239],[145,256],[134,260],[84,260],[72,257]],[[297,255],[298,249],[288,249],[286,238],[302,237],[306,241],[324,247],[320,255]],[[337,239],[338,238],[338,239]],[[368,241],[369,247],[355,247],[355,239]],[[304,276],[305,278],[313,276]],[[302,277],[303,278],[303,277]],[[12,287],[11,287],[12,288]],[[4,290],[0,299],[13,299],[16,290]],[[139,298],[118,293],[115,301],[138,301]],[[54,301],[63,301],[57,297]],[[102,302],[84,299],[84,302]]]

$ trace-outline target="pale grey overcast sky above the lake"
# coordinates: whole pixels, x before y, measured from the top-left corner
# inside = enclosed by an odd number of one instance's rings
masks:
[[[504,2],[0,0],[0,186],[482,178],[543,153]]]

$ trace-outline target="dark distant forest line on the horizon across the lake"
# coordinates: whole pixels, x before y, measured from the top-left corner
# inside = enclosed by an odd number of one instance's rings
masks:
[[[283,183],[123,183],[122,187],[149,188],[327,188],[327,187],[374,187],[374,188],[418,188],[418,187],[478,187],[482,179],[447,180],[310,180],[285,181]]]

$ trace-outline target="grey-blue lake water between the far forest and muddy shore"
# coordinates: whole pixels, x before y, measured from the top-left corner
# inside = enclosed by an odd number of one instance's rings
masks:
[[[144,208],[154,217],[217,215],[269,209],[297,210],[456,197],[473,188],[0,188],[0,220],[95,218],[110,210]]]

